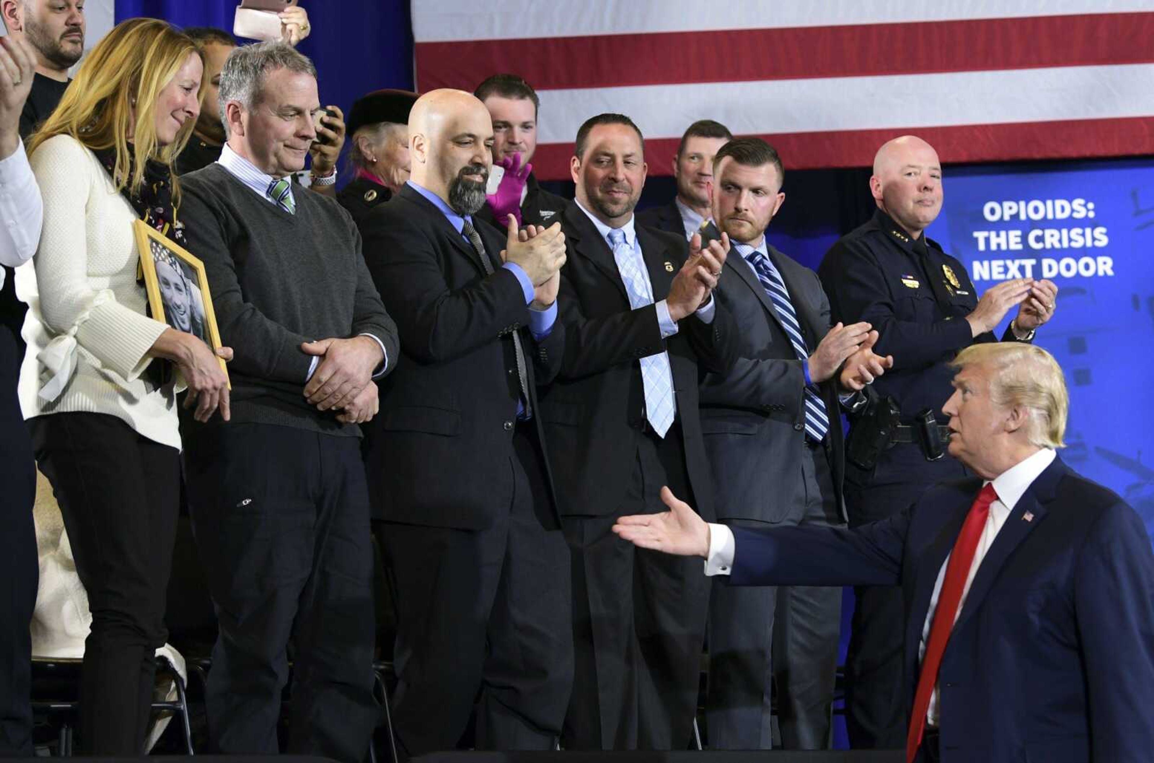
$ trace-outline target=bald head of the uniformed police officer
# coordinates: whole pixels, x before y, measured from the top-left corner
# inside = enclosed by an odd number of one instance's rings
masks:
[[[942,163],[916,135],[896,137],[877,150],[869,185],[878,208],[915,239],[942,211]]]

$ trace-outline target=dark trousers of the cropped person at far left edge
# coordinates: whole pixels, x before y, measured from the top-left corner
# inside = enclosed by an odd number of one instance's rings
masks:
[[[9,276],[10,277],[10,276]],[[18,352],[12,331],[0,326],[0,757],[32,756],[32,639],[39,566],[32,503],[36,462],[16,399]]]

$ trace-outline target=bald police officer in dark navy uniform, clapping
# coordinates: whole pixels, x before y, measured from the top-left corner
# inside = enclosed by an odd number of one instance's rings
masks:
[[[950,361],[992,334],[1014,306],[1003,342],[1029,342],[1054,315],[1057,286],[1017,278],[979,299],[966,268],[923,231],[942,210],[942,166],[912,135],[885,143],[874,159],[872,219],[826,253],[818,275],[834,321],[868,321],[875,352],[893,368],[870,387],[870,403],[850,417],[845,500],[849,525],[904,509],[930,485],[962,477],[946,450],[952,394]],[[846,726],[854,748],[906,743],[901,591],[859,588],[846,657]]]

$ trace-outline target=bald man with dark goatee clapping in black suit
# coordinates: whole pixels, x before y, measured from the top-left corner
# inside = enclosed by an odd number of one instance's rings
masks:
[[[537,384],[564,352],[564,235],[477,218],[493,121],[473,96],[422,96],[409,140],[410,180],[361,229],[402,342],[367,457],[397,583],[392,720],[407,755],[452,749],[475,703],[478,749],[552,749],[572,631]]]

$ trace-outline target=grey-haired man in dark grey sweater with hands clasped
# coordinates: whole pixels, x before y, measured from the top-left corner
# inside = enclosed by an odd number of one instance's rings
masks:
[[[182,179],[180,220],[235,351],[233,417],[188,421],[185,465],[220,626],[207,695],[215,751],[279,751],[292,638],[288,751],[357,763],[377,717],[358,424],[399,347],[352,218],[291,184],[319,110],[316,70],[288,45],[228,57],[228,142]]]

